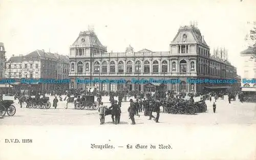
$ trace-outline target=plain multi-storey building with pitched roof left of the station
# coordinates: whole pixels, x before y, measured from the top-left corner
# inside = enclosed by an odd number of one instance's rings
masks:
[[[33,79],[68,79],[69,58],[56,53],[47,53],[44,50],[36,50],[25,56],[13,56],[7,61],[6,78]],[[57,87],[68,89],[69,84],[13,84],[20,89],[51,90]]]

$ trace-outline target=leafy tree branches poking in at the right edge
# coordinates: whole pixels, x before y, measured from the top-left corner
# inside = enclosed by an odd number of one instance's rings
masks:
[[[248,22],[250,24],[250,22]],[[250,33],[246,35],[245,37],[246,41],[250,41],[252,49],[253,49],[253,55],[251,56],[251,60],[256,61],[256,21],[253,22],[253,27],[250,30]]]

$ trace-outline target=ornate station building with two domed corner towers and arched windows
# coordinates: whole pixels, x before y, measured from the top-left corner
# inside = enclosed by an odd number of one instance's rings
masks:
[[[71,88],[84,89],[97,86],[99,90],[154,91],[164,85],[167,90],[196,93],[205,89],[233,87],[237,84],[188,83],[188,79],[237,79],[237,68],[227,60],[210,55],[210,48],[200,30],[184,26],[169,44],[169,51],[153,52],[148,49],[135,52],[127,47],[125,52],[108,53],[94,31],[80,32],[70,47]],[[124,79],[122,83],[76,83],[78,79]],[[132,83],[131,79],[180,79],[180,83]]]

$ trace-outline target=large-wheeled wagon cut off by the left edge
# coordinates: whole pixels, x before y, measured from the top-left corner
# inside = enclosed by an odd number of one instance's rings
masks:
[[[13,100],[3,100],[0,102],[0,115],[5,116],[6,112],[8,116],[13,116],[16,113],[16,108],[12,105]]]

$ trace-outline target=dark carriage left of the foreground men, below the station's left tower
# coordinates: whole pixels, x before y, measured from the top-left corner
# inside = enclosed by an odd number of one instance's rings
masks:
[[[87,110],[97,110],[99,104],[95,102],[94,96],[82,96],[80,100],[74,102],[75,109],[87,109]]]

